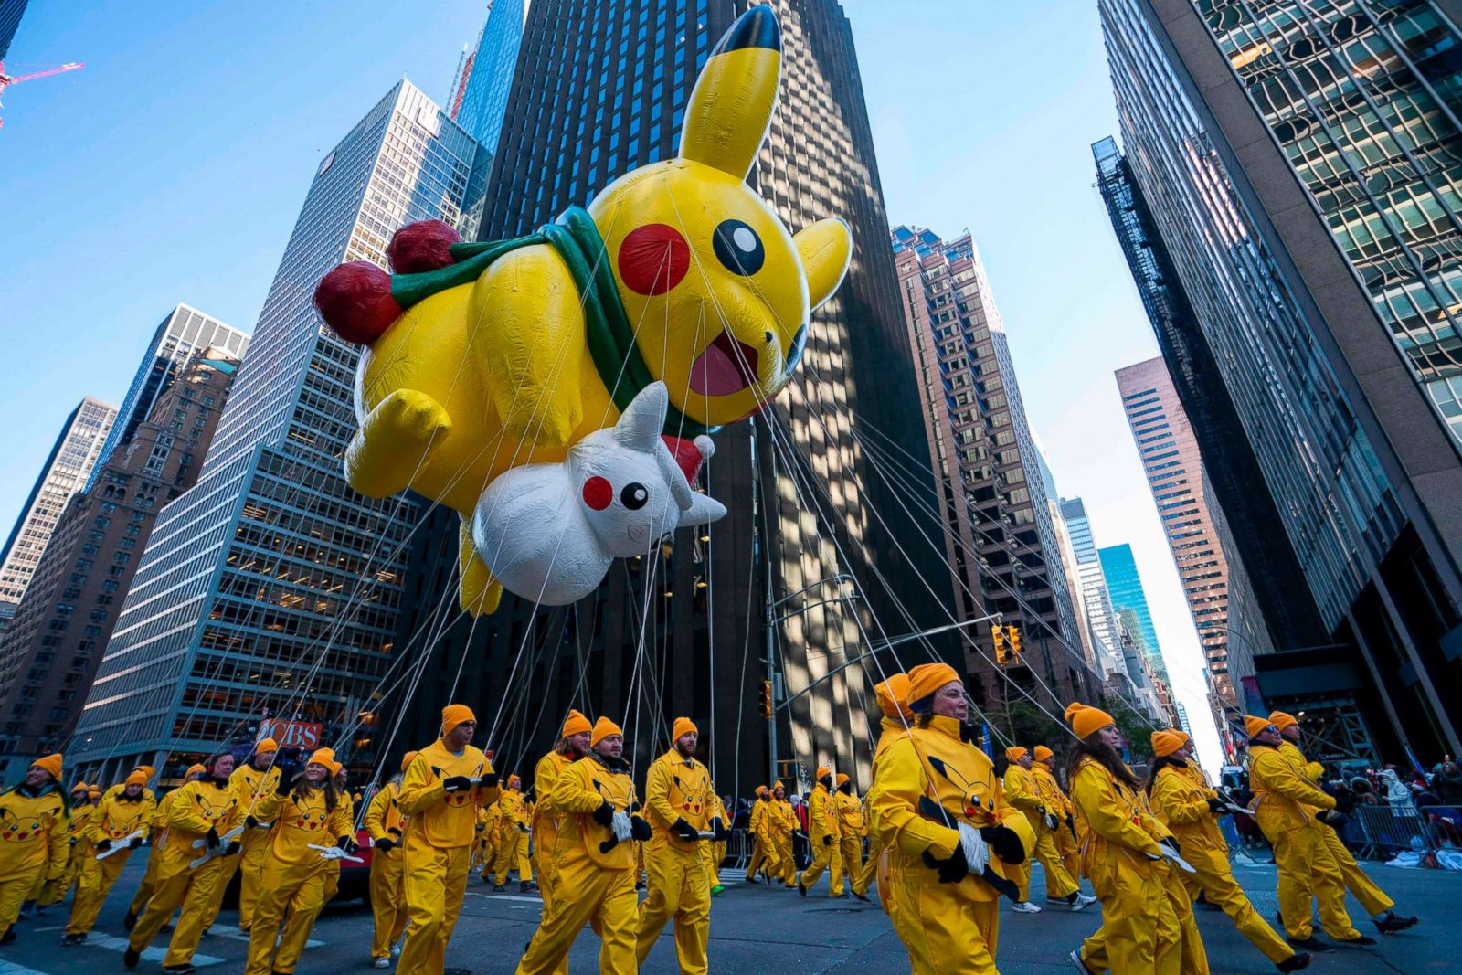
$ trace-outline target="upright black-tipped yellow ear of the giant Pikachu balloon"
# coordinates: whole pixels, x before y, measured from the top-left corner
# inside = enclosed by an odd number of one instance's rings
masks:
[[[772,7],[754,6],[725,32],[686,107],[680,158],[744,178],[772,124],[782,73],[782,29]]]

